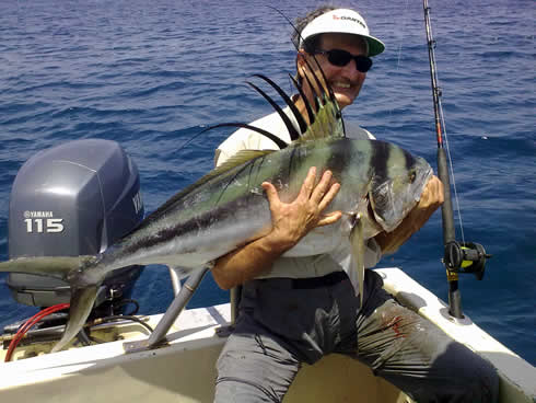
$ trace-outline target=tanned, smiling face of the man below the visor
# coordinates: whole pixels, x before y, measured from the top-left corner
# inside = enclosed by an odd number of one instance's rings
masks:
[[[317,50],[333,50],[341,49],[349,51],[353,56],[366,56],[366,48],[364,43],[356,41],[354,35],[349,34],[323,34],[319,41],[319,49]],[[346,66],[339,67],[331,65],[327,55],[315,55],[318,60],[324,74],[326,76],[328,84],[335,93],[335,97],[339,103],[340,108],[350,105],[358,96],[361,85],[363,85],[366,73],[358,71],[356,69],[356,60],[350,60]],[[314,66],[314,64],[312,64]]]

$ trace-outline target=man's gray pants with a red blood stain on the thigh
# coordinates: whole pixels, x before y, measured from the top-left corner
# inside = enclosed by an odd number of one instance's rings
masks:
[[[348,279],[301,287],[283,278],[244,286],[241,313],[218,360],[218,403],[281,402],[301,362],[349,355],[418,402],[496,402],[494,368],[398,304],[365,274],[363,308]],[[298,285],[298,287],[296,287]]]

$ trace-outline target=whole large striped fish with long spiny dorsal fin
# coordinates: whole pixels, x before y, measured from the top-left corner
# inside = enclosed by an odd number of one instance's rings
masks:
[[[173,196],[135,231],[97,256],[20,257],[0,263],[1,272],[46,274],[70,284],[69,322],[53,350],[66,347],[81,330],[98,286],[109,272],[130,265],[162,264],[188,275],[209,265],[270,231],[263,182],[275,184],[280,198],[290,202],[296,197],[311,166],[317,168],[318,177],[330,170],[340,183],[326,212],[341,210],[343,215],[337,223],[310,232],[286,255],[333,253],[341,243],[348,243],[358,266],[349,276],[362,298],[364,242],[380,231],[393,231],[401,222],[419,200],[432,170],[423,159],[394,145],[346,138],[333,93],[323,90],[322,77],[311,77],[315,81],[310,83],[317,93],[315,105],[306,105],[310,123],[294,111],[303,135],[290,125],[295,140],[290,145],[278,140],[281,150],[240,152]],[[302,92],[300,84],[298,90]],[[283,99],[292,104],[287,96]],[[270,103],[273,104],[271,100]]]

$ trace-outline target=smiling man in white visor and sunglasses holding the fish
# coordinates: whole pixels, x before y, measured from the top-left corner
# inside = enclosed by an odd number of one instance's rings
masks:
[[[369,57],[382,53],[384,45],[369,34],[359,13],[347,9],[321,8],[301,20],[298,31],[298,79],[305,96],[313,99],[313,89],[304,80],[304,65],[314,55],[340,107],[352,104],[371,66]],[[293,102],[306,118],[303,100],[294,96]],[[289,108],[286,113],[292,118]],[[277,114],[252,125],[290,141]],[[360,127],[349,131],[352,138],[373,138]],[[217,164],[241,149],[277,146],[261,135],[240,129],[217,150]],[[377,274],[366,270],[360,307],[340,262],[329,255],[281,257],[308,231],[341,217],[340,211],[323,215],[339,184],[333,183],[329,171],[315,184],[315,172],[312,166],[299,196],[289,204],[279,199],[272,184],[264,183],[271,232],[214,264],[212,274],[220,287],[244,286],[235,331],[218,361],[215,402],[280,402],[301,362],[314,364],[329,353],[360,359],[418,401],[494,401],[498,380],[493,368],[395,302],[382,289]],[[366,266],[395,251],[442,202],[443,187],[434,176],[395,231],[370,240]]]

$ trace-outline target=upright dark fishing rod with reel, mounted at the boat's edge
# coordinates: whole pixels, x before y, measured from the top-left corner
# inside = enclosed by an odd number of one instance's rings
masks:
[[[458,288],[458,274],[473,273],[478,280],[483,277],[486,260],[491,257],[487,254],[483,246],[474,242],[457,242],[454,229],[454,212],[452,207],[451,181],[446,152],[443,142],[443,111],[441,108],[441,89],[438,85],[438,74],[435,67],[435,41],[432,36],[430,22],[430,7],[428,0],[423,0],[424,26],[427,30],[428,57],[430,60],[430,77],[432,80],[433,110],[435,117],[435,133],[438,139],[438,176],[444,186],[444,203],[441,207],[443,221],[443,264],[446,268],[446,279],[448,281],[448,313],[462,319],[462,296]],[[446,135],[446,133],[445,133]],[[458,209],[459,212],[459,209]]]

